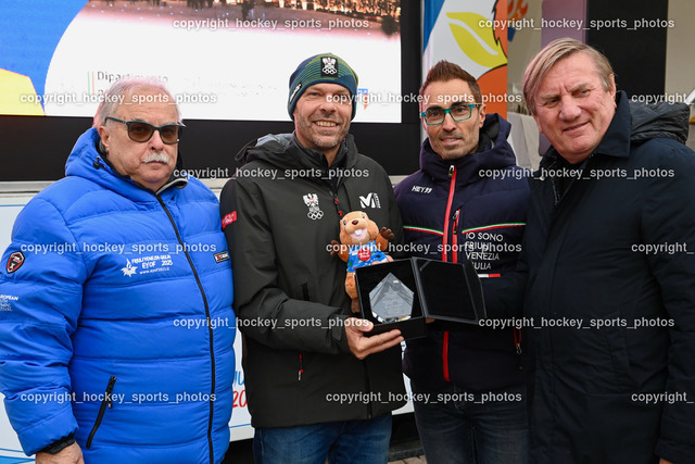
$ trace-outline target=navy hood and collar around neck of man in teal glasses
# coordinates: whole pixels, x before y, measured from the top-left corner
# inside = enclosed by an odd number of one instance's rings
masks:
[[[434,153],[429,138],[420,149],[420,168],[435,180],[447,180],[451,166],[456,166],[460,181],[475,181],[481,170],[504,170],[516,165],[516,156],[507,142],[511,125],[497,113],[485,115],[480,129],[478,150],[456,160],[442,160]]]

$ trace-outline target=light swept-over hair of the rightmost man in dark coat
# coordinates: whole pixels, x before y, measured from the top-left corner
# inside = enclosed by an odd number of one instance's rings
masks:
[[[604,90],[610,91],[614,88],[610,76],[615,75],[608,59],[595,48],[587,46],[569,37],[556,39],[546,45],[529,63],[523,73],[521,88],[523,101],[531,114],[535,114],[535,92],[541,86],[541,80],[555,66],[555,63],[574,53],[586,53],[596,67],[596,73],[601,78]]]

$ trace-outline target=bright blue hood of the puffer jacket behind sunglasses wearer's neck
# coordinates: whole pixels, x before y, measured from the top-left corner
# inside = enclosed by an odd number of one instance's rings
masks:
[[[147,198],[152,200],[151,191],[139,186],[130,177],[118,174],[106,158],[97,149],[99,145],[99,133],[94,127],[88,129],[75,142],[75,147],[65,162],[65,175],[84,177],[92,180],[110,190],[117,191],[131,198]],[[182,161],[179,153],[176,160],[176,167],[181,171]],[[174,176],[164,184],[157,193],[169,187],[184,188],[188,184],[186,176]]]

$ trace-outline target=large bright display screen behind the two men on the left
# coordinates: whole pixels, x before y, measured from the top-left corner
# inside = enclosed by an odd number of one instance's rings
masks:
[[[359,77],[355,122],[401,123],[401,1],[61,0],[0,4],[0,114],[92,116],[121,76],[159,76],[185,118],[288,121],[313,54]]]

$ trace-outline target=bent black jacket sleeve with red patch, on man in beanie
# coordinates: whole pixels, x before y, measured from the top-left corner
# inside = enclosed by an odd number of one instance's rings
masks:
[[[348,353],[341,308],[291,299],[278,287],[274,236],[264,197],[250,179],[231,179],[220,215],[233,269],[239,330],[274,349]]]

